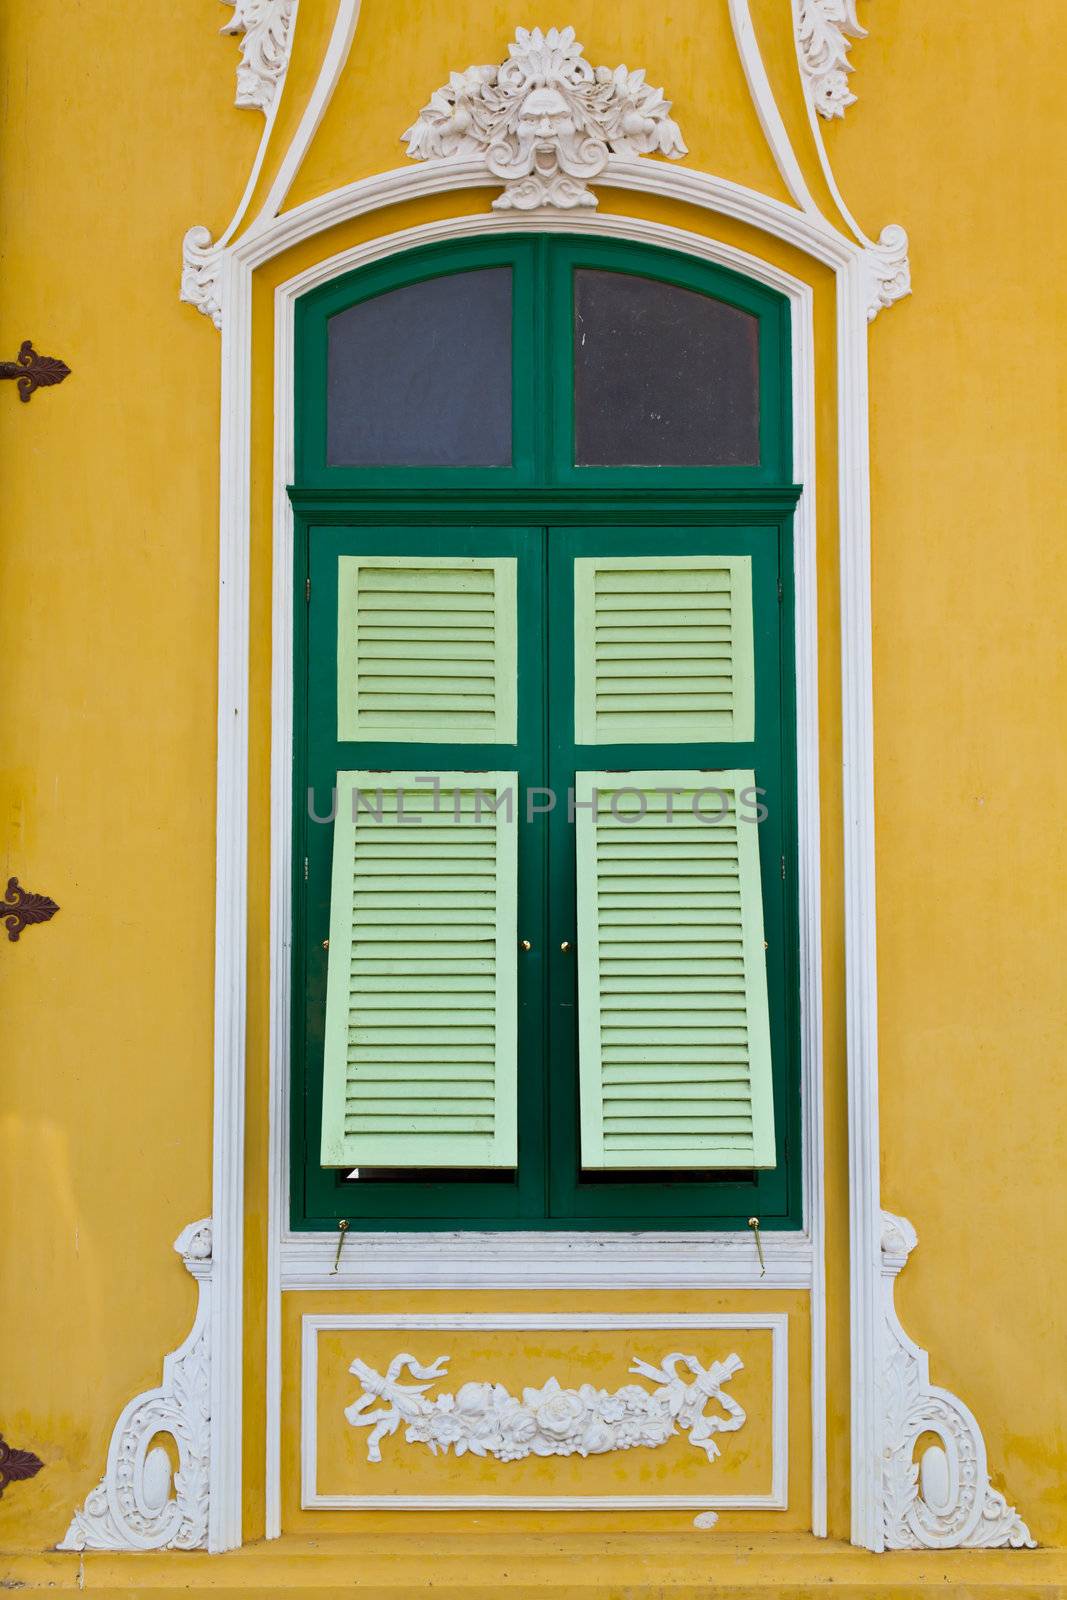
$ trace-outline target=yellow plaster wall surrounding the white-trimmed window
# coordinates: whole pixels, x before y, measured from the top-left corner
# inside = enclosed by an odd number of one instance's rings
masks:
[[[1067,1168],[1059,808],[1059,347],[1067,317],[1059,0],[861,5],[861,96],[827,142],[877,232],[912,235],[915,294],[872,330],[883,1200],[920,1246],[897,1304],[934,1381],[976,1411],[993,1482],[1067,1544]],[[322,48],[333,6],[301,0]],[[774,8],[753,6],[790,130],[803,109]],[[784,13],[782,13],[784,14]],[[590,59],[646,66],[691,154],[782,197],[725,0],[582,0]],[[61,904],[0,941],[5,1114],[0,1421],[46,1462],[0,1499],[0,1539],[61,1536],[112,1422],[189,1328],[170,1253],[210,1210],[219,349],[178,302],[179,242],[218,235],[262,120],[232,106],[216,0],[0,11],[6,78],[0,355],[32,336],[72,376],[0,386],[3,861]],[[515,16],[365,0],[352,61],[291,203],[403,163],[398,134]],[[769,29],[769,30],[768,30]],[[307,45],[307,54],[315,50]],[[302,61],[280,130],[314,77]],[[805,171],[824,189],[809,146]],[[269,162],[277,165],[272,147]],[[269,171],[267,171],[269,176]],[[272,285],[357,238],[485,210],[394,208],[290,253],[254,301],[246,1506],[262,1518]],[[750,230],[605,192],[603,210],[713,230],[816,288],[832,1531],[848,1528],[848,1269],[832,285]],[[1062,245],[1062,235],[1061,235]],[[6,877],[5,874],[5,877]],[[421,1296],[422,1298],[422,1296]],[[766,1298],[769,1302],[769,1296]],[[637,1304],[637,1302],[633,1302]],[[672,1296],[699,1309],[699,1296]],[[803,1475],[803,1430],[795,1440]],[[797,1478],[800,1483],[801,1478]],[[286,1494],[291,1507],[293,1485]],[[293,1520],[299,1520],[296,1515]],[[803,1526],[803,1522],[797,1523]]]

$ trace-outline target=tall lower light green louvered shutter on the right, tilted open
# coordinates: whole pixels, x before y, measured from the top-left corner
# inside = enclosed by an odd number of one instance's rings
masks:
[[[577,773],[579,802],[598,790],[577,810],[585,1168],[774,1166],[753,786]]]

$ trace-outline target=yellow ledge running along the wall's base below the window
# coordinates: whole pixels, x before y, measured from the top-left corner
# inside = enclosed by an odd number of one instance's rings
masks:
[[[0,1557],[0,1590],[142,1600],[163,1590],[285,1595],[286,1600],[1067,1600],[1067,1550],[947,1550],[869,1555],[800,1536],[368,1534],[253,1544],[232,1555]]]

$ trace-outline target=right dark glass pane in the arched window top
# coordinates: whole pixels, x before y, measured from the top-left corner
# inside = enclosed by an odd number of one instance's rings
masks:
[[[760,322],[673,283],[574,272],[579,467],[760,461]]]

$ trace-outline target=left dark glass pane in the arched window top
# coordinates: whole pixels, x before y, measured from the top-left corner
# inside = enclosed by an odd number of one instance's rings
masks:
[[[426,278],[330,318],[331,467],[506,467],[510,459],[510,267]]]

